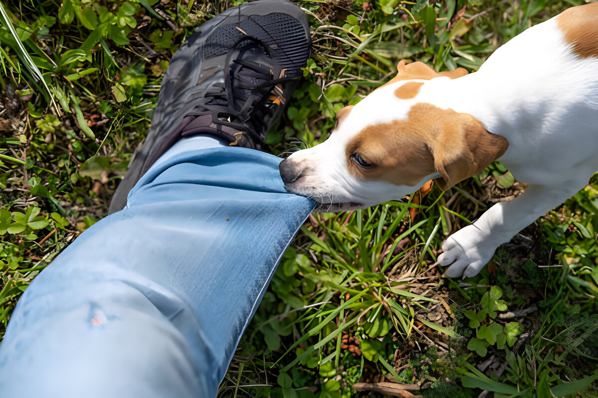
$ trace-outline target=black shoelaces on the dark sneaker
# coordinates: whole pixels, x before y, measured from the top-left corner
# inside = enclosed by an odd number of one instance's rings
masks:
[[[296,79],[294,77],[279,76],[274,79],[273,70],[269,66],[248,60],[233,60],[239,64],[231,75],[231,57],[233,51],[241,42],[251,40],[266,49],[267,45],[251,36],[244,36],[228,51],[225,61],[224,84],[215,84],[212,92],[206,92],[206,101],[197,110],[203,115],[210,113],[214,124],[224,125],[246,132],[252,139],[261,141],[260,132],[263,121],[275,104],[284,104],[285,98],[281,84]],[[270,55],[270,54],[269,54]],[[281,72],[283,74],[284,70]],[[234,88],[233,88],[234,81]],[[254,82],[263,82],[255,84]],[[235,94],[247,94],[244,103],[237,109],[237,103],[243,98],[235,98]]]

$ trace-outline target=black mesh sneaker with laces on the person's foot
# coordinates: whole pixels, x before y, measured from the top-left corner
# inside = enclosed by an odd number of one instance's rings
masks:
[[[213,134],[259,149],[303,75],[311,38],[286,0],[229,8],[198,27],[173,55],[144,144],[110,203],[121,210],[149,167],[181,137]]]

